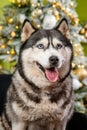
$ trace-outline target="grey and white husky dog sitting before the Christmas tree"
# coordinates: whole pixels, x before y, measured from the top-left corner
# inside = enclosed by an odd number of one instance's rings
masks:
[[[64,18],[51,30],[24,21],[0,130],[65,130],[73,113],[73,48]]]

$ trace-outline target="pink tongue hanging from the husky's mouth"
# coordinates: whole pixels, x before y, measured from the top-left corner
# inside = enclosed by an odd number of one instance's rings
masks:
[[[59,76],[57,69],[55,69],[54,71],[46,69],[45,74],[50,82],[56,82]]]

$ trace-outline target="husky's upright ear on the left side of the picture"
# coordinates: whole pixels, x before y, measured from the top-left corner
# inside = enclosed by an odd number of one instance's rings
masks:
[[[35,28],[32,26],[30,21],[28,19],[25,19],[22,27],[21,41],[25,42],[34,31]]]

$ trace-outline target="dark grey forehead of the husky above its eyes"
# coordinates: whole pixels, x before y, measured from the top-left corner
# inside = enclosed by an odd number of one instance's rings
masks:
[[[29,37],[29,39],[24,43],[24,45],[22,45],[22,49],[27,49],[29,47],[33,47],[34,45],[37,44],[38,41],[41,41],[42,39],[46,39],[48,41],[48,43],[49,42],[52,43],[54,41],[54,42],[61,42],[65,46],[67,44],[70,44],[70,42],[68,41],[68,39],[66,37],[64,37],[60,33],[60,31],[55,30],[55,29],[52,29],[52,30],[43,30],[43,29],[40,29],[38,31],[35,31]]]

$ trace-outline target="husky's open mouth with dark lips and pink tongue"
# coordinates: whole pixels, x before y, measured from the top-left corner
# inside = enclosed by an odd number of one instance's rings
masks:
[[[58,80],[58,78],[59,78],[59,72],[58,72],[58,69],[56,67],[44,68],[38,62],[36,62],[36,64],[45,73],[46,78],[50,82],[54,83],[54,82],[56,82]]]

